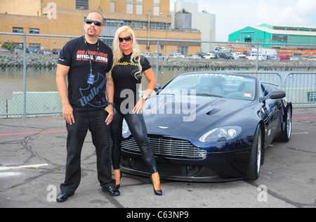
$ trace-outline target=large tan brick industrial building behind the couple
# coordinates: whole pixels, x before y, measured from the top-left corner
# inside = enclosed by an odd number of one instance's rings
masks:
[[[103,37],[114,37],[118,27],[129,25],[138,39],[201,40],[200,32],[171,30],[169,0],[1,0],[1,32],[81,36],[89,11],[100,11],[105,18]],[[149,25],[150,24],[150,25]],[[66,41],[67,39],[65,39]],[[6,39],[1,39],[2,42]],[[21,40],[18,40],[21,42]],[[65,41],[33,40],[27,47],[62,48]],[[29,42],[29,41],[27,41]],[[156,53],[157,42],[140,41],[143,52]],[[169,47],[161,44],[162,53],[182,50],[176,42]],[[180,47],[180,49],[179,49]],[[200,48],[200,47],[199,47]],[[199,52],[197,46],[187,46],[188,53]]]

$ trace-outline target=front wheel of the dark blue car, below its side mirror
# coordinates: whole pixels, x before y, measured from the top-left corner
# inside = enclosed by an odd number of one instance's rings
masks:
[[[248,174],[246,180],[256,181],[259,178],[261,168],[261,159],[263,158],[261,126],[258,125],[254,135],[254,143],[252,144]]]

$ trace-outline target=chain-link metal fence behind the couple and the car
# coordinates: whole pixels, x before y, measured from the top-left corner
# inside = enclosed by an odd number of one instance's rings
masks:
[[[55,84],[58,51],[74,38],[0,32],[0,118],[62,112]],[[112,38],[101,39],[112,46]],[[316,106],[316,45],[163,39],[138,44],[162,86],[183,72],[237,72],[279,85],[294,107]]]

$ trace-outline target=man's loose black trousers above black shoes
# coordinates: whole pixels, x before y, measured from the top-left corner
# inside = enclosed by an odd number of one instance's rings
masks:
[[[91,131],[96,147],[98,181],[101,187],[114,185],[110,157],[110,126],[105,124],[105,110],[94,112],[74,112],[74,124],[67,124],[67,162],[65,182],[60,190],[72,195],[81,180],[81,150],[86,133]]]

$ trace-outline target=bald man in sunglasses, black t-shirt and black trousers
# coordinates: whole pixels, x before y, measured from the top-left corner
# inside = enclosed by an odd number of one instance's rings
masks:
[[[65,182],[60,185],[57,202],[65,202],[79,186],[81,149],[88,130],[96,147],[102,190],[112,196],[119,195],[114,187],[110,159],[114,84],[112,79],[109,81],[108,72],[112,68],[113,54],[110,47],[98,39],[104,30],[103,22],[103,16],[97,11],[89,13],[84,22],[84,36],[69,41],[60,52],[56,83],[68,136]]]

